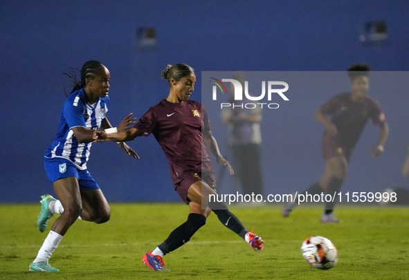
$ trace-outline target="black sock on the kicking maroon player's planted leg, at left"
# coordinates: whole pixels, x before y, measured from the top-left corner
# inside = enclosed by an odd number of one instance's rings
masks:
[[[169,237],[158,245],[163,255],[176,250],[183,244],[190,241],[190,237],[193,236],[199,228],[206,224],[206,217],[201,214],[190,213],[188,221],[176,227],[176,229],[169,234]]]

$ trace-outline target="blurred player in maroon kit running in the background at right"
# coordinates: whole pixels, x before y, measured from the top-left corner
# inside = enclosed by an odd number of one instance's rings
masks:
[[[301,194],[321,194],[339,192],[347,176],[348,162],[351,159],[355,144],[370,118],[379,125],[379,140],[372,148],[373,156],[383,153],[383,145],[388,138],[388,123],[382,113],[379,103],[367,96],[369,88],[368,76],[370,67],[367,64],[353,64],[348,68],[351,78],[352,93],[341,93],[332,97],[316,111],[316,119],[325,126],[322,136],[322,155],[326,160],[324,174],[318,183],[309,187]],[[325,115],[332,115],[328,120]],[[282,209],[282,216],[287,217],[296,206],[298,197],[286,203]],[[335,202],[325,203],[325,212],[320,221],[322,223],[339,223],[332,213]]]

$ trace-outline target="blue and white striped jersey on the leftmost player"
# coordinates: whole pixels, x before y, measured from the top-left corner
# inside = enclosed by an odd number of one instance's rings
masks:
[[[84,88],[72,93],[62,106],[58,133],[53,144],[46,150],[46,158],[66,158],[78,169],[87,169],[89,150],[92,142],[79,143],[71,130],[73,127],[86,127],[98,130],[108,111],[109,97],[100,97],[95,104],[87,104]]]

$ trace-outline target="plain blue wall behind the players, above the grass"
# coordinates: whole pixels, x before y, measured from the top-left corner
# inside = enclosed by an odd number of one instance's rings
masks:
[[[62,73],[70,67],[98,59],[109,68],[107,116],[118,124],[127,113],[140,116],[167,96],[161,71],[177,62],[190,64],[197,72],[195,100],[201,100],[201,71],[345,71],[354,62],[366,62],[374,71],[406,71],[408,8],[406,1],[379,0],[1,1],[0,202],[31,202],[45,192],[53,194],[43,153],[57,132],[65,99],[53,82],[68,89]],[[363,46],[358,40],[363,24],[376,20],[388,24],[388,44]],[[156,50],[135,51],[136,28],[141,26],[156,28]],[[272,167],[264,167],[267,194],[304,189],[318,179],[324,166],[322,127],[313,112],[336,93],[338,89],[328,88],[309,93],[307,99],[293,93],[293,106],[287,111],[264,115],[264,124],[277,123],[275,129],[263,131],[264,145],[273,147],[275,155],[269,158]],[[401,87],[371,88],[370,95],[383,106],[390,139],[385,154],[373,160],[369,149],[377,130],[365,129],[346,189],[365,185],[380,190],[404,183],[400,168],[409,142],[404,125],[407,93]],[[226,150],[224,133],[214,134]],[[292,151],[291,147],[300,146],[300,138],[306,139],[305,149]],[[92,147],[89,171],[108,200],[179,201],[167,160],[154,138],[140,138],[130,145],[140,160],[128,158],[114,143]]]

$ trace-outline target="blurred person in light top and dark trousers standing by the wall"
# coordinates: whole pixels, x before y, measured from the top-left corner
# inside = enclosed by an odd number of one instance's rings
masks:
[[[234,80],[244,85],[244,74],[237,72]],[[234,87],[230,88],[228,102],[234,104]],[[253,109],[235,106],[221,109],[221,120],[228,125],[227,143],[233,152],[233,168],[235,176],[242,185],[242,194],[263,195],[263,174],[261,165],[262,109],[257,105]]]

